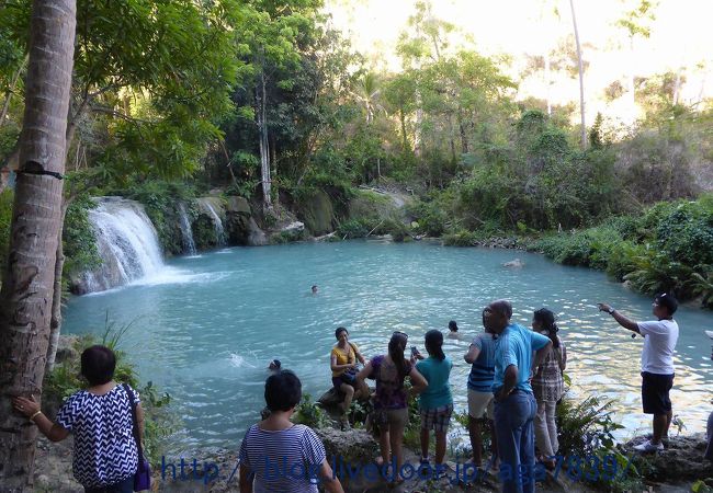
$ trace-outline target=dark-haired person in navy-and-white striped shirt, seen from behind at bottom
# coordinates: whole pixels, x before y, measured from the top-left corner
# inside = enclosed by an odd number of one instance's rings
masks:
[[[270,415],[250,426],[240,444],[240,493],[343,493],[327,462],[325,445],[308,426],[290,421],[302,399],[302,382],[282,370],[264,385]]]

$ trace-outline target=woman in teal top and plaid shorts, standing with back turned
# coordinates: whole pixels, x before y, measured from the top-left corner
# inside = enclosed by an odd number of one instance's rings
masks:
[[[428,358],[416,364],[416,369],[428,381],[428,388],[419,397],[421,410],[421,462],[428,462],[430,432],[435,433],[435,469],[443,466],[445,435],[453,414],[453,395],[449,377],[453,363],[443,354],[443,334],[432,330],[426,333]]]

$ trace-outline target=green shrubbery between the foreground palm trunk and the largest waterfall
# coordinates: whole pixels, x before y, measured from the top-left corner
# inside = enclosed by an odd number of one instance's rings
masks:
[[[63,275],[65,277],[91,271],[101,265],[102,260],[97,248],[97,237],[89,220],[89,211],[94,207],[97,204],[88,194],[79,195],[67,207],[61,232],[65,254]]]

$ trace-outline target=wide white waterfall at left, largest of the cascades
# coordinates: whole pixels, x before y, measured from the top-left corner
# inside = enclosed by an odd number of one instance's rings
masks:
[[[93,293],[128,284],[163,268],[156,229],[144,206],[121,197],[100,197],[89,211],[102,265],[83,274],[80,291]]]

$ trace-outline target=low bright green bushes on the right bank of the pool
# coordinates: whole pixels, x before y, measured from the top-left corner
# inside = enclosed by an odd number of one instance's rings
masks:
[[[547,236],[531,244],[555,262],[607,271],[637,291],[670,291],[713,305],[713,199],[660,203],[638,217]]]

